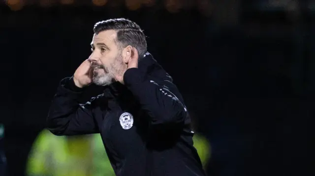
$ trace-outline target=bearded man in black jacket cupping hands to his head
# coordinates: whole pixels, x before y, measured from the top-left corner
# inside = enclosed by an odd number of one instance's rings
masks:
[[[126,19],[96,23],[92,54],[58,87],[48,114],[55,135],[100,133],[117,176],[204,176],[183,98]],[[94,83],[104,93],[78,100]]]

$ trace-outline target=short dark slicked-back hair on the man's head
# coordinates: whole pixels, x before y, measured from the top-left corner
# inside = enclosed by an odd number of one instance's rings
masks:
[[[130,45],[136,48],[139,53],[139,58],[144,57],[147,52],[146,36],[140,26],[135,22],[120,18],[97,22],[94,25],[93,31],[95,34],[104,30],[116,30],[117,42],[120,47],[125,48]]]

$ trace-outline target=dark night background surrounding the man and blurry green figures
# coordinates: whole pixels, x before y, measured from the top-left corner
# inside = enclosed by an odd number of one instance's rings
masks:
[[[120,17],[144,29],[148,50],[210,140],[209,176],[308,175],[315,1],[61,1],[0,2],[0,122],[10,176],[23,176],[59,81],[90,55],[93,25]],[[92,86],[87,97],[100,91]]]

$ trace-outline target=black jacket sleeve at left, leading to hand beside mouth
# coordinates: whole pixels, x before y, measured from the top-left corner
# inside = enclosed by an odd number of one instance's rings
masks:
[[[55,135],[81,135],[98,133],[98,127],[92,113],[93,102],[80,104],[82,88],[75,86],[73,78],[61,81],[51,103],[47,128]]]

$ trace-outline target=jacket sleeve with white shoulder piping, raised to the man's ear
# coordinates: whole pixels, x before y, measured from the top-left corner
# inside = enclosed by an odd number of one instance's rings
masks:
[[[168,80],[144,80],[139,69],[128,69],[124,75],[126,87],[151,117],[152,125],[183,124],[186,106],[176,86]]]

